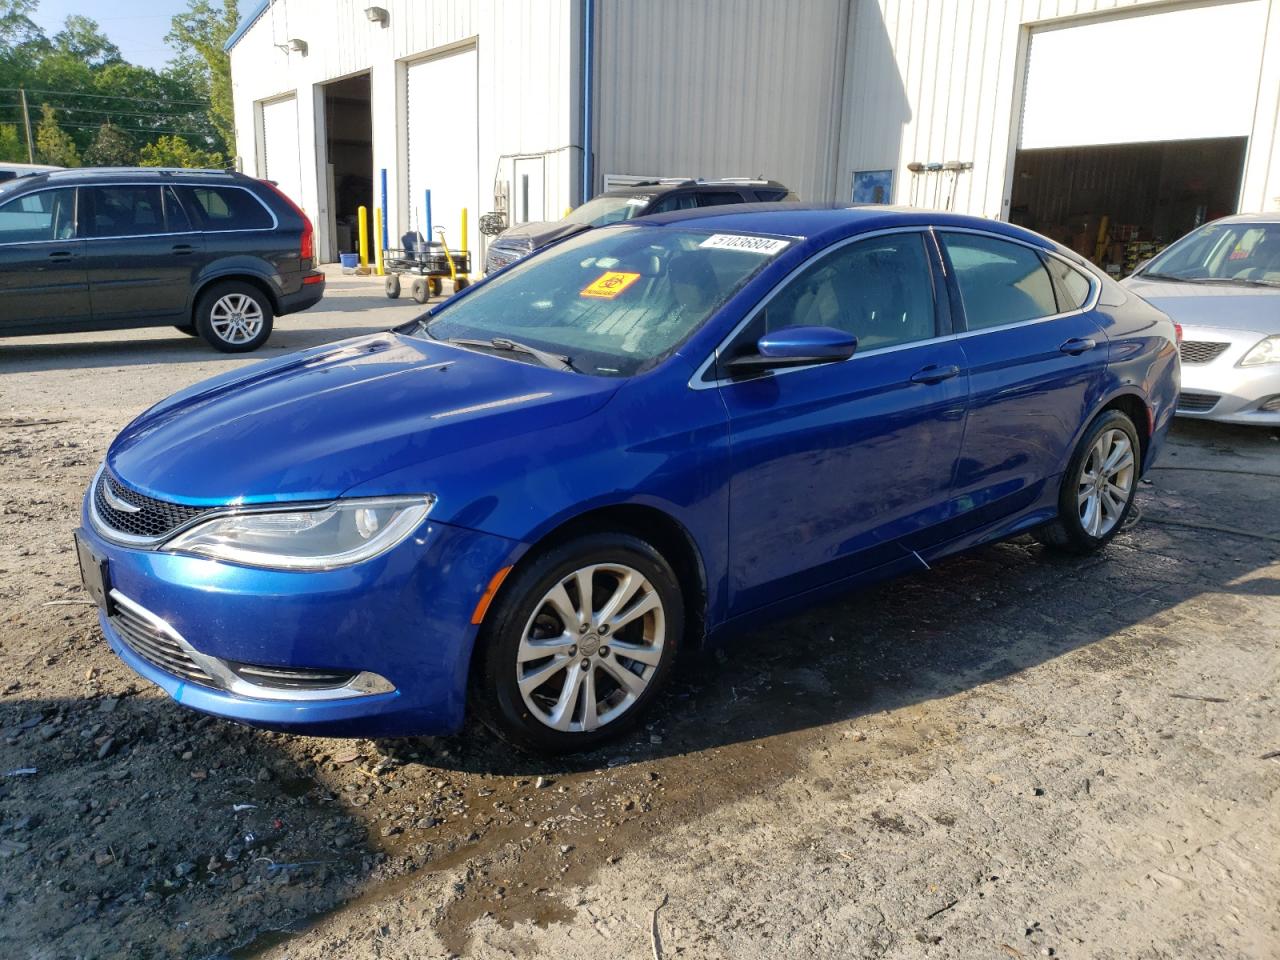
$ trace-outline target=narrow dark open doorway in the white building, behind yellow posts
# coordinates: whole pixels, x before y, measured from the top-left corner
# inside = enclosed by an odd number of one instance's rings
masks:
[[[329,260],[360,246],[358,210],[374,210],[374,125],[369,74],[324,88],[325,188],[329,196]],[[372,220],[369,225],[372,230]]]

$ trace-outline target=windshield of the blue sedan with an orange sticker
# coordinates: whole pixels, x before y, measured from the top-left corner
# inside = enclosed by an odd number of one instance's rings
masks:
[[[426,314],[438,340],[567,358],[631,376],[669,355],[790,241],[673,228],[588,230]],[[527,352],[512,358],[536,362]]]

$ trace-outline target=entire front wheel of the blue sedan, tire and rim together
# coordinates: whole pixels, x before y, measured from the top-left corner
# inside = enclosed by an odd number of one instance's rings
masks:
[[[684,625],[680,585],[653,547],[625,534],[572,540],[504,585],[477,640],[474,703],[516,746],[589,750],[641,719]]]

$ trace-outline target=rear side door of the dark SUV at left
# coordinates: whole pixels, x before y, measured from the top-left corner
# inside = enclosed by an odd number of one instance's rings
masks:
[[[93,320],[189,323],[188,301],[205,239],[168,184],[104,184],[88,195]]]

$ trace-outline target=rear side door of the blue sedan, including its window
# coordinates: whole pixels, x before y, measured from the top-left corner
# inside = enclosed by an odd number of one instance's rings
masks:
[[[986,233],[940,230],[954,279],[970,402],[957,531],[1033,503],[1056,484],[1106,372],[1097,282],[1051,253]]]

